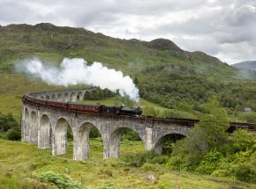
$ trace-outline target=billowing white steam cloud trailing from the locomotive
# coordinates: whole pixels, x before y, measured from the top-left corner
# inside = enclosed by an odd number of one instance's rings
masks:
[[[64,86],[90,84],[114,92],[118,90],[121,96],[126,95],[132,101],[139,102],[139,89],[133,84],[132,78],[124,76],[121,71],[104,67],[101,62],[94,62],[89,66],[81,58],[64,58],[57,68],[34,58],[19,63],[20,69],[41,78],[47,84]]]

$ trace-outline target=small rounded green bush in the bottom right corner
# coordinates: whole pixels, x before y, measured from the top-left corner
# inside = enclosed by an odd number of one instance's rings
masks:
[[[245,182],[256,182],[256,168],[252,164],[242,163],[234,168],[237,179]]]

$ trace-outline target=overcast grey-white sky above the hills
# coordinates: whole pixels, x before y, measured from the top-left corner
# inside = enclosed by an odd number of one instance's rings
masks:
[[[0,0],[0,25],[41,22],[256,61],[256,0]]]

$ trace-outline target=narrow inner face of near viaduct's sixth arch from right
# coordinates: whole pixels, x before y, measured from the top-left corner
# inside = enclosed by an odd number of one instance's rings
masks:
[[[30,132],[29,132],[29,138],[31,143],[37,143],[38,142],[38,118],[37,114],[32,111],[30,113]]]

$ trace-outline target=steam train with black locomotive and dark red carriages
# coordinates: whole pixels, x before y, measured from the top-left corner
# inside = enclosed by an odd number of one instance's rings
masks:
[[[115,114],[115,115],[128,115],[128,116],[135,116],[140,117],[142,114],[142,110],[138,108],[132,108],[127,106],[106,106],[106,105],[79,105],[73,104],[70,102],[56,102],[50,100],[44,100],[40,98],[34,98],[33,94],[25,95],[23,97],[23,101],[33,103],[36,105],[47,105],[55,108],[61,109],[68,109],[68,110],[75,110],[87,113],[108,113],[108,114]]]

